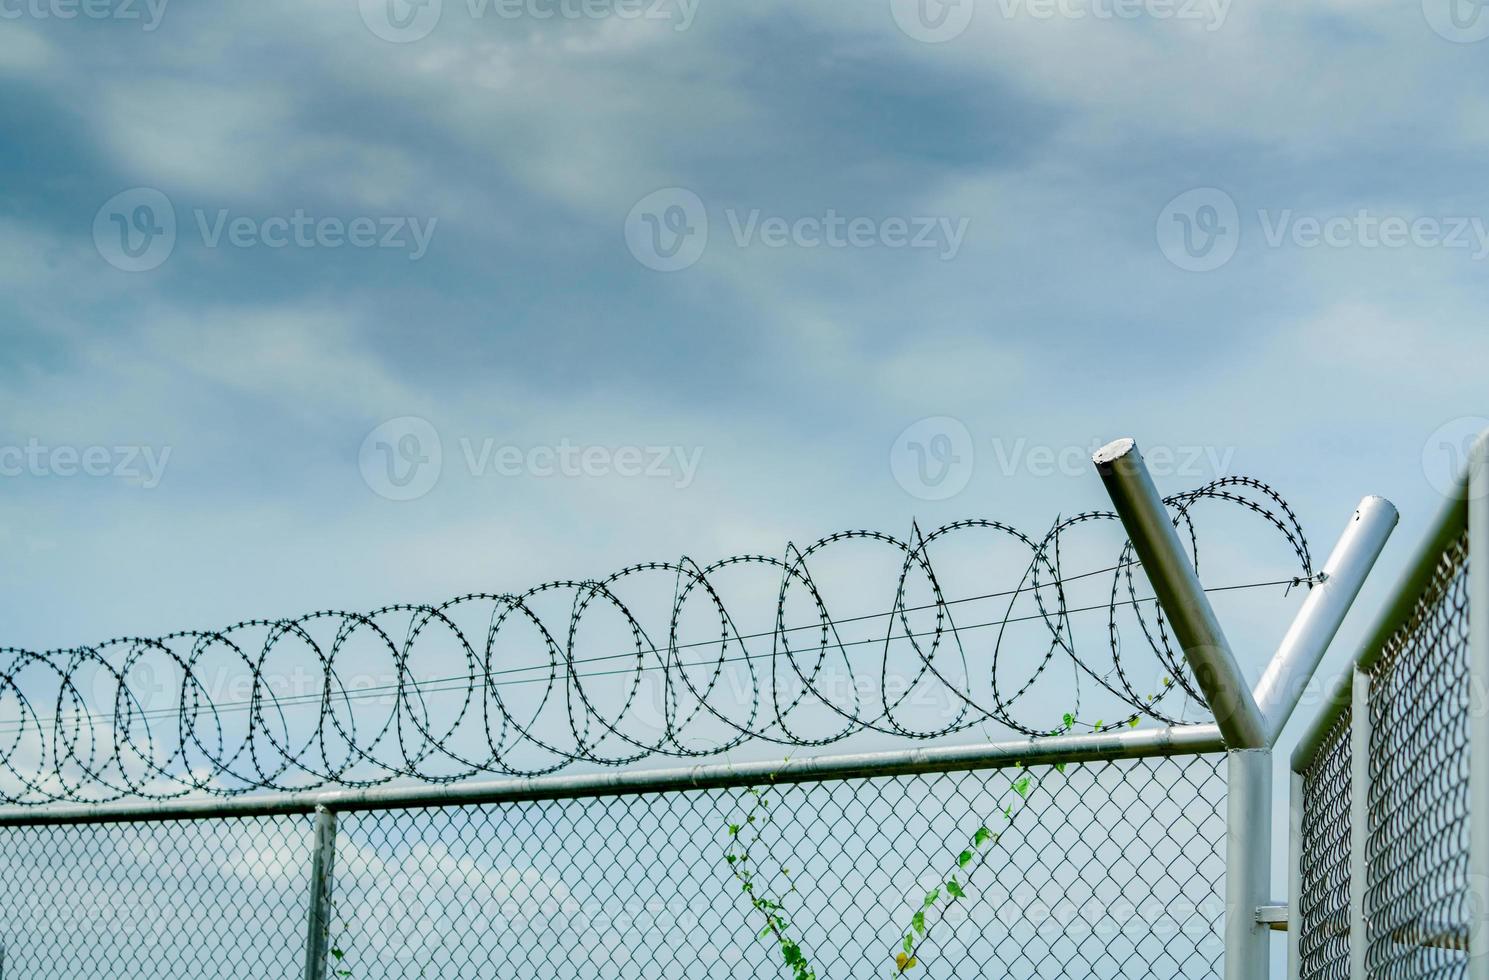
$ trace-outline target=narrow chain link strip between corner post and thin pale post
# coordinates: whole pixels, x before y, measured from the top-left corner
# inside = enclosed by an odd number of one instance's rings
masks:
[[[1303,773],[1298,855],[1301,980],[1349,977],[1349,725],[1346,709]]]

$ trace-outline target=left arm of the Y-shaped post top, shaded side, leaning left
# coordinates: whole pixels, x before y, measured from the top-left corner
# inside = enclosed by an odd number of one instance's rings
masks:
[[[1194,672],[1194,681],[1209,701],[1215,724],[1225,736],[1227,748],[1270,748],[1267,724],[1251,697],[1251,685],[1230,651],[1193,561],[1184,554],[1173,518],[1152,484],[1138,444],[1118,439],[1099,450],[1091,460],[1127,529],[1127,538],[1142,561],[1158,605],[1169,617],[1173,634]]]

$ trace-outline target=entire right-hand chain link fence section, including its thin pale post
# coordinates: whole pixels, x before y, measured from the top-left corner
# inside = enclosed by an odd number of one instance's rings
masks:
[[[1425,556],[1397,621],[1367,645],[1354,696],[1336,697],[1336,718],[1294,758],[1303,980],[1468,976],[1468,556],[1467,527]]]

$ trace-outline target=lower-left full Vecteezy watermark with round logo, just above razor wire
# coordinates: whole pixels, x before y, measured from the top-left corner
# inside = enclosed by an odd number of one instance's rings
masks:
[[[551,480],[663,480],[686,490],[698,475],[703,447],[585,445],[572,439],[515,445],[494,438],[460,436],[460,462],[468,477],[530,477]],[[417,500],[439,483],[444,444],[424,419],[384,421],[368,433],[357,454],[362,480],[389,500]]]

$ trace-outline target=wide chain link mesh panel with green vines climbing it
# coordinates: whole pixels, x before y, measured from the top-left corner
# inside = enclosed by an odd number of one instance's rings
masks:
[[[1219,757],[1069,766],[1035,789],[922,977],[1218,977]],[[884,977],[929,888],[1001,827],[1008,770],[767,789],[759,886],[822,980]],[[334,968],[360,977],[786,977],[724,855],[747,789],[341,818]]]

